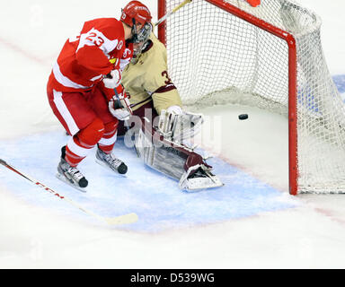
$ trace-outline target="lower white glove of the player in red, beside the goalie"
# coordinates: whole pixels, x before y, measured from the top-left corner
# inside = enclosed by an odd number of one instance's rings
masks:
[[[121,86],[122,87],[122,86]],[[128,120],[133,114],[130,109],[130,103],[123,88],[117,89],[118,95],[114,95],[109,101],[109,110],[111,115],[117,117],[119,120]]]

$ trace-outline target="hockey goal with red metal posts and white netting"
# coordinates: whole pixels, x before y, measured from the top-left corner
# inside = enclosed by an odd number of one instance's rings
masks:
[[[158,18],[181,0],[158,0]],[[289,192],[345,193],[345,110],[320,18],[286,0],[193,0],[158,27],[183,104],[242,103],[288,117]]]

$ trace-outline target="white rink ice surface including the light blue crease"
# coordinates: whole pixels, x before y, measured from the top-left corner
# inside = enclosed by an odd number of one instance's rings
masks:
[[[323,19],[325,57],[344,94],[345,3],[299,2]],[[0,157],[95,213],[140,218],[109,228],[0,167],[0,268],[343,268],[345,197],[288,195],[288,124],[258,109],[203,110],[225,125],[205,149],[217,145],[209,162],[226,187],[181,193],[120,141],[128,178],[93,156],[81,165],[97,184],[88,193],[54,177],[65,135],[45,92],[51,65],[84,21],[119,17],[126,3],[20,0],[0,9]],[[155,12],[156,1],[146,3]],[[249,119],[238,121],[242,113]]]

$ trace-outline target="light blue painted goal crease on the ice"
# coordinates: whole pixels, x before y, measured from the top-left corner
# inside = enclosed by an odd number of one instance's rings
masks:
[[[135,212],[139,221],[116,227],[121,230],[157,232],[182,227],[253,216],[296,206],[296,201],[278,190],[250,177],[225,161],[208,161],[225,187],[197,193],[182,192],[177,181],[144,165],[134,149],[118,140],[114,153],[128,164],[127,178],[114,176],[94,161],[95,150],[79,165],[89,180],[87,193],[69,187],[55,177],[60,147],[66,143],[63,131],[31,135],[0,143],[1,158],[67,196],[86,209],[102,216]],[[47,208],[50,213],[80,221],[96,220],[74,206],[59,200],[40,187],[18,177],[11,170],[0,169],[0,181],[16,197],[33,208]]]

